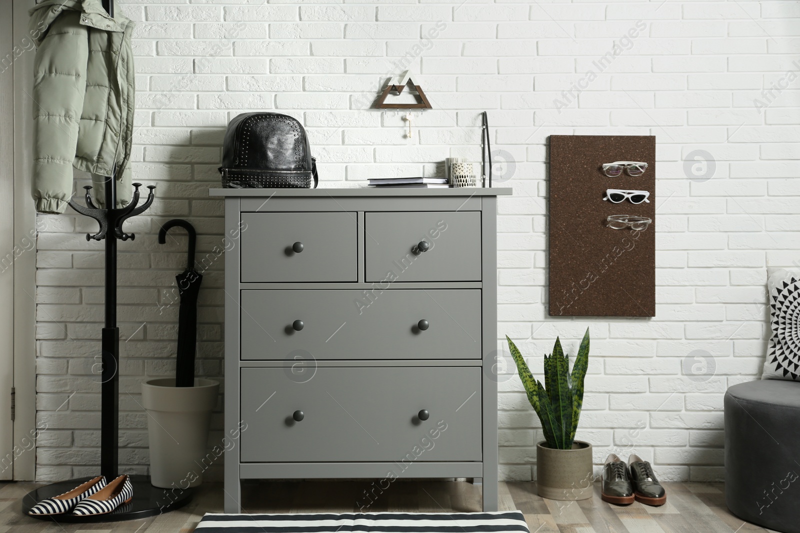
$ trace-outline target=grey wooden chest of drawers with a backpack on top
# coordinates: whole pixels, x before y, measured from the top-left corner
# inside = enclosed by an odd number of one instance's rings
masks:
[[[225,511],[242,479],[482,478],[498,507],[497,196],[225,198]]]

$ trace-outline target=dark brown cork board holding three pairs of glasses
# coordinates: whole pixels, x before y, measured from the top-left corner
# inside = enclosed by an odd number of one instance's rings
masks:
[[[645,161],[642,176],[602,164]],[[655,316],[655,137],[550,136],[550,316]],[[603,201],[606,189],[650,192],[650,203]],[[610,229],[609,215],[650,217]]]

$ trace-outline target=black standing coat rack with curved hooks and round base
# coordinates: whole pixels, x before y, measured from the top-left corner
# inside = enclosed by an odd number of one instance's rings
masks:
[[[114,18],[114,0],[102,0],[103,8],[111,18]],[[122,231],[122,225],[130,217],[144,213],[153,204],[155,185],[148,185],[150,189],[147,199],[142,205],[139,203],[139,187],[141,183],[134,183],[134,194],[130,203],[123,208],[117,208],[117,180],[112,175],[104,177],[104,206],[98,208],[91,199],[92,187],[86,185],[86,206],[78,205],[70,199],[69,205],[78,213],[94,218],[98,221],[100,229],[94,235],[87,233],[86,241],[106,241],[106,316],[102,328],[102,373],[101,373],[101,414],[100,414],[100,473],[106,476],[106,482],[116,478],[119,474],[119,328],[117,326],[117,241],[133,241],[134,233]],[[94,476],[92,476],[94,477]],[[70,479],[39,487],[30,491],[22,499],[22,512],[27,515],[30,507],[55,495],[78,487],[89,478]],[[70,523],[95,523],[118,522],[122,520],[142,519],[148,516],[159,515],[173,511],[191,501],[193,489],[174,487],[170,489],[153,487],[150,478],[146,475],[131,475],[134,485],[134,497],[130,503],[118,507],[117,510],[106,515],[36,515],[33,518],[52,520],[54,522]]]

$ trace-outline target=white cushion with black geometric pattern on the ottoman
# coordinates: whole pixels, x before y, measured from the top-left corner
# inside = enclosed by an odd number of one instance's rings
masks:
[[[770,272],[770,325],[763,380],[800,380],[800,272]]]

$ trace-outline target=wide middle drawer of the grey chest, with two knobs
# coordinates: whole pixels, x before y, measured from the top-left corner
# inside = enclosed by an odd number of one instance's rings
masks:
[[[481,357],[479,289],[252,290],[241,305],[242,360]]]

